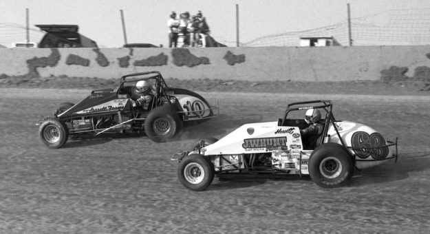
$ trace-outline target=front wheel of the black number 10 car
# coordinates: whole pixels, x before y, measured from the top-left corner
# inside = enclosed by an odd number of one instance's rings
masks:
[[[59,120],[47,119],[39,127],[39,137],[47,147],[60,148],[69,138],[69,129]]]

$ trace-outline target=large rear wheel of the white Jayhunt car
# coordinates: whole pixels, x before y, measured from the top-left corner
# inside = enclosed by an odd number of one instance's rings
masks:
[[[310,156],[310,178],[324,188],[343,186],[350,181],[353,170],[351,156],[336,143],[323,144]]]

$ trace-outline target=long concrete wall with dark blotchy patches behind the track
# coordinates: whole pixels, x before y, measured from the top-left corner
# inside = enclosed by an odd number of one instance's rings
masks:
[[[430,67],[429,54],[430,45],[1,48],[0,76],[119,78],[157,70],[165,78],[180,79],[360,81],[378,80],[383,72],[396,67],[403,67],[406,76],[414,76],[416,67]]]

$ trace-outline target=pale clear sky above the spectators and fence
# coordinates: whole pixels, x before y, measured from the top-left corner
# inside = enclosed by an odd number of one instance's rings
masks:
[[[239,41],[261,36],[321,28],[345,21],[347,3],[351,17],[387,10],[430,8],[429,0],[0,0],[0,23],[25,25],[76,24],[79,32],[99,47],[127,43],[167,45],[167,20],[172,11],[197,14],[201,10],[215,40],[236,45],[236,6],[239,8]],[[22,41],[22,40],[21,40]],[[30,41],[32,39],[30,38]],[[38,41],[36,41],[38,42]]]

